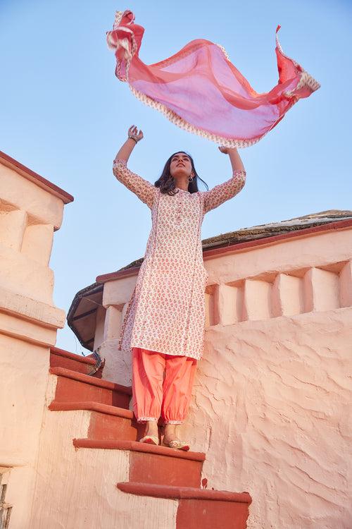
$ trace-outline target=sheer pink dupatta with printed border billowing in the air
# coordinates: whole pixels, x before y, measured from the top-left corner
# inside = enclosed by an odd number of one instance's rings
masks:
[[[249,147],[274,128],[286,112],[320,84],[287,57],[276,30],[279,81],[258,94],[230,62],[224,48],[192,40],[175,55],[147,65],[139,59],[144,28],[132,11],[118,11],[108,47],[115,51],[118,79],[145,104],[175,125],[225,147]]]

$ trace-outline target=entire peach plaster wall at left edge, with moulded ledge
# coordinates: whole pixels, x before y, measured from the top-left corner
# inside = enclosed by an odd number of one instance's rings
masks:
[[[1,160],[3,158],[1,157]],[[6,502],[11,529],[29,527],[42,429],[49,346],[65,313],[52,300],[49,257],[61,226],[60,190],[0,160],[0,466],[10,469]],[[40,177],[39,177],[40,178]]]

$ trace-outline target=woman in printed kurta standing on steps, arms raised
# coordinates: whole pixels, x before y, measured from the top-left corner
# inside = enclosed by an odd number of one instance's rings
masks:
[[[119,349],[132,350],[134,415],[146,423],[141,442],[158,444],[158,418],[163,418],[163,444],[189,450],[177,438],[186,418],[196,370],[203,354],[207,273],[203,266],[201,223],[210,209],[237,195],[246,171],[237,149],[228,154],[233,175],[199,191],[193,159],[176,152],[153,185],[127,169],[127,160],[142,130],[131,126],[113,163],[113,174],[150,209],[152,228],[137,284],[122,322]]]

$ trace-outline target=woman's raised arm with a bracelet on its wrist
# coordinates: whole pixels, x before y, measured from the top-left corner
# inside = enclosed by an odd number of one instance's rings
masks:
[[[130,154],[137,145],[137,142],[142,140],[142,138],[142,130],[139,130],[138,132],[136,126],[132,125],[128,129],[128,138],[120,148],[118,154],[116,154],[113,161],[113,174],[118,181],[123,183],[127,189],[130,189],[130,191],[137,195],[144,204],[151,208],[153,206],[157,188],[153,186],[152,183],[144,180],[142,176],[132,173],[132,171],[127,168],[127,160],[130,158]]]

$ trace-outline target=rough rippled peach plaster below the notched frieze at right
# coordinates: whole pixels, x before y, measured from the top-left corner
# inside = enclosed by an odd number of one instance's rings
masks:
[[[352,527],[352,309],[217,325],[186,428],[250,529]]]

